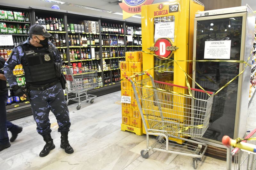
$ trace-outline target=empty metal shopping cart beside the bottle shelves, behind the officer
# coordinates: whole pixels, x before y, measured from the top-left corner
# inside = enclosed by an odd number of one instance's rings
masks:
[[[76,109],[81,108],[81,102],[86,101],[93,103],[96,95],[87,94],[87,91],[95,89],[98,86],[98,74],[97,70],[89,70],[78,67],[62,67],[67,81],[66,94],[67,104],[69,100],[78,102]],[[69,94],[73,93],[74,97],[69,97]]]

